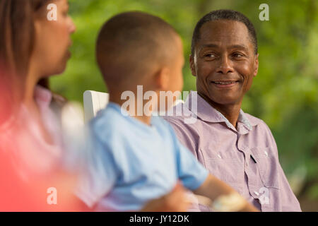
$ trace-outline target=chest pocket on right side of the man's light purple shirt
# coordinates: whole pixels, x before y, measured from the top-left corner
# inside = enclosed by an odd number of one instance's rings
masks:
[[[251,148],[251,157],[257,163],[261,181],[268,188],[279,189],[278,159],[273,155],[273,148]]]

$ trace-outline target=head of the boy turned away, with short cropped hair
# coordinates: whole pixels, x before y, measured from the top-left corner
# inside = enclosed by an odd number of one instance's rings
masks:
[[[164,20],[141,12],[114,16],[102,26],[96,46],[108,91],[182,89],[182,40]]]

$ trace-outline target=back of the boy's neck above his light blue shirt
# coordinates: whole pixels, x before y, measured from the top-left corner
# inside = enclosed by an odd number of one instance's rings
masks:
[[[129,100],[130,100],[130,99],[129,99]],[[118,96],[118,95],[113,95],[112,93],[110,93],[110,102],[114,102],[114,103],[118,104],[120,107],[122,107],[122,105],[123,105],[125,102],[129,101],[129,100],[122,100],[120,96]],[[142,108],[141,108],[141,109],[142,109],[142,112],[140,112],[141,115],[139,115],[139,114],[138,114],[139,112],[137,112],[137,109],[138,109],[138,106],[137,106],[137,103],[138,103],[138,102],[137,102],[137,98],[135,98],[134,101],[131,101],[131,105],[133,104],[133,102],[134,102],[134,110],[127,111],[127,112],[129,113],[129,115],[130,115],[131,117],[134,117],[135,119],[137,119],[137,120],[143,122],[143,123],[146,124],[146,125],[150,125],[150,124],[151,124],[151,116],[147,116],[147,115],[144,114],[144,112],[143,112],[143,106],[145,106],[144,100],[140,100],[140,102],[143,103],[143,105],[139,107],[139,108],[142,107]],[[130,105],[129,105],[129,106],[130,106]],[[131,107],[133,107],[133,106],[131,106]]]

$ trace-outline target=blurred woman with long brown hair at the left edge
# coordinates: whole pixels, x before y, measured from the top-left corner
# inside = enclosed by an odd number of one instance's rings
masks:
[[[49,4],[57,6],[57,20],[47,19]],[[76,28],[68,10],[66,0],[0,1],[0,210],[82,210],[71,195],[74,177],[61,167],[60,120],[52,109],[65,100],[47,89],[71,56]],[[59,206],[47,199],[49,184],[64,196]]]

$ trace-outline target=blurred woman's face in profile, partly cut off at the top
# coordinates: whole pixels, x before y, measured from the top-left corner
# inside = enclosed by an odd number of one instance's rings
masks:
[[[49,4],[57,6],[57,20],[48,19],[54,13],[54,9],[47,9]],[[47,1],[35,15],[35,46],[31,62],[35,64],[41,78],[62,73],[71,57],[71,34],[76,28],[68,13],[67,0],[54,0]]]

